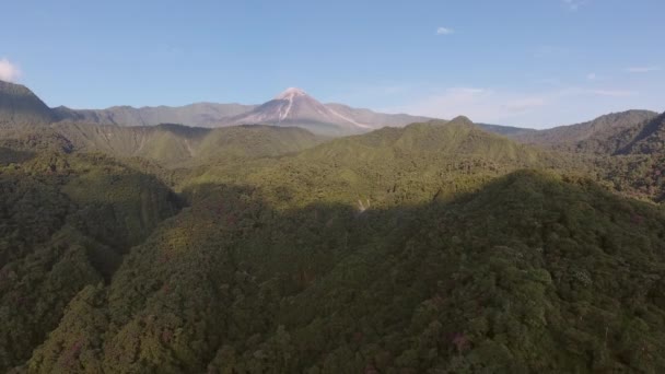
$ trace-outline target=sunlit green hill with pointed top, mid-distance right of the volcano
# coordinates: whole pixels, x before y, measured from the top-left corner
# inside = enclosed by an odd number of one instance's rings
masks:
[[[451,198],[522,167],[572,165],[576,164],[567,155],[482,131],[460,117],[334,139],[294,155],[242,167],[197,167],[178,188],[245,180],[271,191],[270,196],[291,197],[285,200],[288,207],[325,200],[364,210]]]

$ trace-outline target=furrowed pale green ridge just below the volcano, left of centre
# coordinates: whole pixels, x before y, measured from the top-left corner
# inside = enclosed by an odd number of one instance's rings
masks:
[[[54,129],[78,151],[104,152],[117,157],[140,156],[170,167],[277,156],[314,147],[322,141],[304,129],[269,126],[206,129],[180,125],[119,127],[57,124]]]

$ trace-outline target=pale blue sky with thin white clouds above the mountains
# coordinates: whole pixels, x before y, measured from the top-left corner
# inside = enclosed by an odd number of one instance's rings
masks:
[[[665,110],[663,0],[3,1],[49,106],[322,102],[547,128]]]

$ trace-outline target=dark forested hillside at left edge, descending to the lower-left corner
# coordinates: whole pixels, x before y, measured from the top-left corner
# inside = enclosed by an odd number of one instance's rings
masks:
[[[154,177],[101,155],[0,149],[0,371],[24,362],[69,301],[177,213]]]

